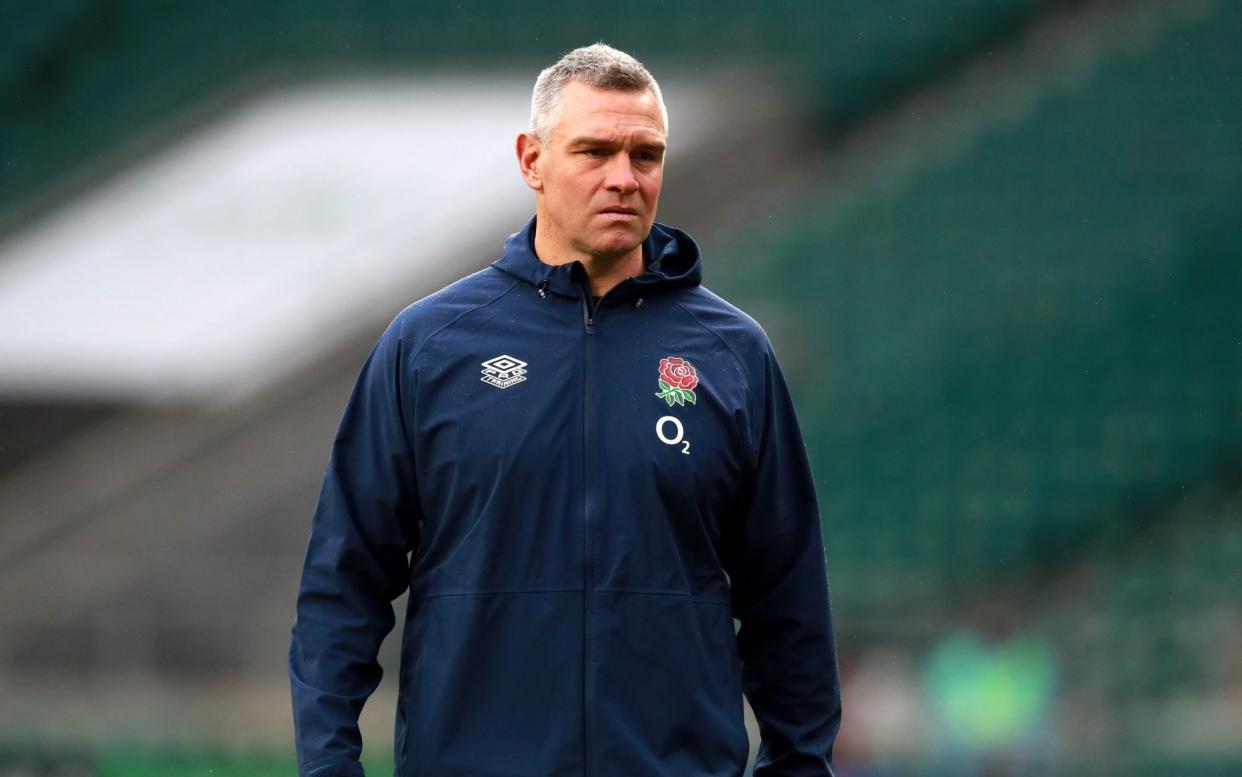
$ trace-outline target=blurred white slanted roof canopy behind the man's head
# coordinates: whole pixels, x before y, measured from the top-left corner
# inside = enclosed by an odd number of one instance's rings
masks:
[[[227,402],[374,329],[428,267],[483,266],[533,212],[530,83],[276,92],[48,213],[0,245],[0,395]],[[704,127],[688,97],[678,150]]]

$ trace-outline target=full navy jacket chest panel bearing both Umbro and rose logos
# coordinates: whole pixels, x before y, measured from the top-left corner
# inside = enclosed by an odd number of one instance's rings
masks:
[[[414,432],[427,592],[589,576],[725,596],[746,390],[718,338],[660,313],[605,307],[587,333],[569,304],[502,308],[428,343]]]

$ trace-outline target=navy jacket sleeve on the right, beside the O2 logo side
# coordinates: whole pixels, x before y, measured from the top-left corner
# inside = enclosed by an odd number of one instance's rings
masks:
[[[754,469],[727,571],[743,690],[759,722],[755,777],[831,777],[841,683],[818,501],[780,366],[751,379]]]

